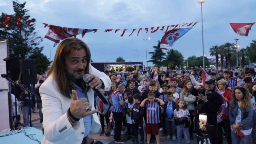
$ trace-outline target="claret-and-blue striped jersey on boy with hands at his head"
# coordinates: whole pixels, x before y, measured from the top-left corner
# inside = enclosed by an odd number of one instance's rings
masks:
[[[147,123],[148,124],[159,124],[160,123],[160,117],[159,117],[159,103],[158,102],[149,102],[146,101],[146,116],[147,116]]]

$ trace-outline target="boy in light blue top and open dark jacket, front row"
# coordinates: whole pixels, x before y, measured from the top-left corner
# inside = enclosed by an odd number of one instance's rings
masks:
[[[164,115],[165,115],[165,124],[167,131],[166,140],[170,140],[170,134],[172,132],[172,141],[176,140],[176,131],[175,131],[175,122],[174,122],[174,110],[176,109],[176,102],[174,102],[174,97],[172,92],[167,94],[168,101],[164,104]]]

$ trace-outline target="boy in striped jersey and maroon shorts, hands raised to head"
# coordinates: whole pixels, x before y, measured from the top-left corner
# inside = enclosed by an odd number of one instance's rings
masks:
[[[146,129],[147,134],[147,144],[150,142],[151,133],[156,136],[156,143],[160,144],[159,140],[159,123],[160,123],[160,106],[163,106],[164,102],[159,98],[156,98],[156,95],[153,92],[148,93],[148,98],[143,100],[140,106],[146,109]]]

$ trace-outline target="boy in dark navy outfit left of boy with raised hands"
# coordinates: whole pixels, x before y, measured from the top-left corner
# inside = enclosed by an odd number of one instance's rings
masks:
[[[143,107],[140,106],[141,97],[140,94],[133,96],[134,106],[132,108],[131,119],[132,129],[134,132],[134,144],[138,144],[138,130],[140,132],[140,144],[144,144],[144,132],[143,132]]]

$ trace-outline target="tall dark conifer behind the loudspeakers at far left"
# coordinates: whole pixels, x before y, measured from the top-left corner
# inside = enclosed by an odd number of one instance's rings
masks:
[[[34,20],[28,15],[27,9],[25,9],[26,2],[20,4],[18,1],[12,1],[12,6],[15,14],[12,14],[12,18],[8,23],[8,27],[0,27],[0,38],[8,39],[9,41],[9,56],[10,57],[21,57],[22,59],[31,58],[30,56],[36,52],[42,52],[39,49],[34,50],[36,46],[43,40],[38,36],[38,32],[35,31],[35,23],[31,23],[27,26],[28,20]],[[2,12],[0,16],[0,25],[4,22],[6,14]],[[20,27],[17,29],[16,19],[22,17],[20,21]],[[38,51],[39,50],[39,51]],[[41,54],[43,55],[43,54]],[[46,71],[50,62],[46,58],[43,61],[36,60],[36,67],[38,68],[38,73],[41,71]],[[44,65],[44,66],[43,66]],[[42,67],[41,67],[42,66]]]

